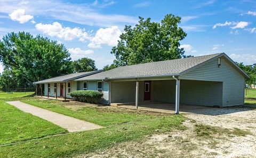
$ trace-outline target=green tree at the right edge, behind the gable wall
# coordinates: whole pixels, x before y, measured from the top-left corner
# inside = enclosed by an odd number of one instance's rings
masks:
[[[244,65],[243,63],[236,64],[250,76],[249,79],[246,79],[246,84],[256,85],[256,63],[253,65]]]

